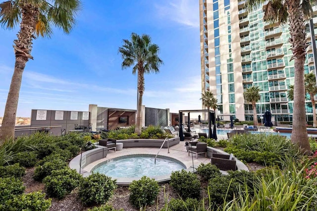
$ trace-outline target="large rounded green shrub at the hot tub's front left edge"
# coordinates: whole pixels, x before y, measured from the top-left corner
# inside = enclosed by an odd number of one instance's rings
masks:
[[[93,173],[83,179],[79,188],[79,197],[85,205],[104,204],[113,195],[115,180],[100,173]]]

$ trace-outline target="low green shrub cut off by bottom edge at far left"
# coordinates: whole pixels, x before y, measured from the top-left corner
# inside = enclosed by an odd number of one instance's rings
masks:
[[[47,211],[51,207],[51,199],[45,199],[44,193],[33,192],[14,197],[6,201],[3,207],[5,211]]]

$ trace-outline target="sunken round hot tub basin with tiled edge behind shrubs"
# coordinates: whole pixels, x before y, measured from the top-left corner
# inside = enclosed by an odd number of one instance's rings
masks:
[[[172,171],[186,169],[186,166],[170,157],[135,154],[116,157],[96,165],[91,172],[99,172],[117,180],[118,185],[128,185],[142,176],[154,178],[159,183],[168,182]]]

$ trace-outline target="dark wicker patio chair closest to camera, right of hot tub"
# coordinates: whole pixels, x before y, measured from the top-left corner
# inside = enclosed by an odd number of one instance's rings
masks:
[[[223,155],[211,153],[211,165],[215,165],[220,170],[236,170],[237,161],[233,154]]]

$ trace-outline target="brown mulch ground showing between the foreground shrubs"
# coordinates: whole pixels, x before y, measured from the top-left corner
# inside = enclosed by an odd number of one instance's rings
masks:
[[[257,163],[249,163],[247,164],[250,171],[255,171],[258,169],[263,169],[264,166],[259,165]],[[41,182],[37,182],[33,179],[34,168],[26,169],[26,174],[23,176],[22,180],[24,185],[26,186],[25,193],[30,193],[34,191],[42,191],[45,192],[44,184]],[[206,183],[207,184],[207,183]],[[165,201],[169,201],[172,198],[178,198],[178,194],[169,186],[169,184],[163,184],[160,186],[160,192],[158,196],[157,202],[146,208],[147,211],[158,211],[164,207]],[[206,192],[206,191],[205,191]],[[202,195],[206,195],[204,190],[202,191]],[[123,209],[124,211],[139,211],[139,209],[135,209],[129,203],[129,190],[127,186],[119,186],[112,198],[109,200],[109,204],[111,204],[115,209]],[[87,211],[89,208],[84,207],[81,204],[81,201],[78,197],[78,190],[75,189],[64,199],[57,200],[52,199],[52,206],[49,211]]]

